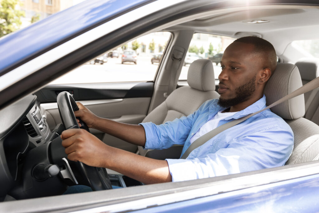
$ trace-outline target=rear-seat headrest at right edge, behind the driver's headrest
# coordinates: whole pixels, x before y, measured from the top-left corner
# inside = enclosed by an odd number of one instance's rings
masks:
[[[299,69],[301,79],[311,81],[319,76],[318,58],[301,58],[296,66]]]

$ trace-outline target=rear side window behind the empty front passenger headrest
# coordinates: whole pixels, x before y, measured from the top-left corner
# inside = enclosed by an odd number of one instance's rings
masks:
[[[227,36],[195,33],[190,41],[179,80],[187,80],[189,65],[200,58],[213,62],[215,79],[218,79],[221,72],[220,59],[226,47],[234,40],[235,38]]]

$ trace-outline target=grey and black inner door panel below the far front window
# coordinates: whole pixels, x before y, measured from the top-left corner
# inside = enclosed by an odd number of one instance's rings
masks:
[[[94,114],[122,123],[139,124],[145,118],[153,93],[153,83],[103,83],[77,85],[48,85],[35,94],[41,102],[42,113],[46,116],[51,130],[62,123],[56,103],[59,92],[73,92],[76,101],[81,102]],[[112,97],[110,99],[110,97]],[[95,98],[94,100],[92,100]],[[137,146],[111,135],[90,129],[91,133],[104,143],[130,152]]]

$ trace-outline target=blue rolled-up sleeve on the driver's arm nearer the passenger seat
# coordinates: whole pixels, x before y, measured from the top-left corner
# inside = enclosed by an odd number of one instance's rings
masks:
[[[146,143],[145,149],[165,149],[174,144],[183,145],[192,128],[194,114],[187,117],[168,121],[161,125],[155,125],[152,122],[141,123],[145,129]]]

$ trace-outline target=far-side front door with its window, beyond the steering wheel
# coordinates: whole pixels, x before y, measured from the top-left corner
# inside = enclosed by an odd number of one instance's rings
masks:
[[[139,37],[115,48],[122,53],[119,58],[109,57],[108,62],[102,65],[85,63],[35,92],[50,129],[53,130],[57,124],[62,123],[56,104],[56,97],[62,91],[69,92],[76,101],[83,103],[101,118],[128,124],[141,123],[150,106],[154,78],[159,66],[152,64],[152,54],[158,53],[160,49],[140,47],[141,44],[150,46],[151,43],[162,47],[168,42],[170,34],[155,32]],[[130,48],[136,48],[138,56],[135,60],[138,63],[123,64],[121,58]],[[110,146],[130,152],[137,151],[137,146],[133,144],[96,129],[90,131]]]

